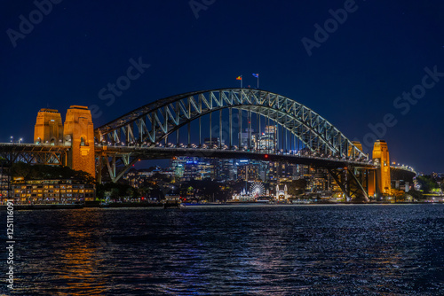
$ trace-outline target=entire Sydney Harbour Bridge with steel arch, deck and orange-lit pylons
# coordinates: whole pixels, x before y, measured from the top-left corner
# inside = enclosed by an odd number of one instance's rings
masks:
[[[266,129],[273,136],[259,144],[258,133]],[[416,175],[408,167],[391,167],[383,140],[375,143],[370,159],[359,142],[305,105],[270,91],[240,88],[166,97],[96,129],[87,107],[72,105],[64,123],[57,110],[42,109],[33,144],[0,144],[0,157],[9,164],[64,165],[99,182],[117,182],[139,160],[178,156],[325,168],[356,201],[389,193],[393,173],[409,180]]]

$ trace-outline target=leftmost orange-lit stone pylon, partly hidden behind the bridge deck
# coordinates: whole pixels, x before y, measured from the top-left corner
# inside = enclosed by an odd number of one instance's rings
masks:
[[[58,110],[41,109],[34,127],[35,144],[63,144],[63,121]]]

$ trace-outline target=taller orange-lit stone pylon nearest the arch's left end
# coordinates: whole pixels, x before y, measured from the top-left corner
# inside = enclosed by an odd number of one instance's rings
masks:
[[[71,105],[67,109],[63,134],[64,144],[72,147],[67,153],[67,166],[95,177],[94,126],[88,107]]]

